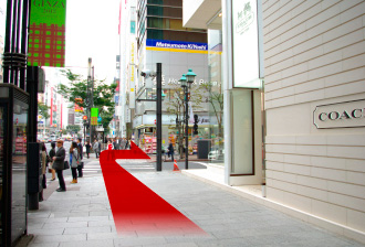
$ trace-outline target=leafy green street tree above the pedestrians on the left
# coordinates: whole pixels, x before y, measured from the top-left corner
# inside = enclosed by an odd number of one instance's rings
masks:
[[[85,108],[90,103],[87,97],[87,80],[83,79],[81,75],[72,73],[71,69],[62,71],[62,74],[69,79],[69,85],[61,84],[59,87],[59,93],[71,103],[76,103],[76,98],[81,98],[81,101],[76,104],[80,107]],[[112,83],[111,85],[104,80],[94,80],[94,107],[98,108],[98,115],[102,117],[102,125],[104,129],[108,129],[109,122],[113,119],[115,103],[114,95],[116,84]]]

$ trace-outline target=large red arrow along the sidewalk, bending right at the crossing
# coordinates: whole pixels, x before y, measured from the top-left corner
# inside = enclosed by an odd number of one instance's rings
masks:
[[[207,235],[199,226],[153,192],[115,159],[149,159],[135,143],[131,150],[105,150],[101,167],[115,227],[123,235]]]

